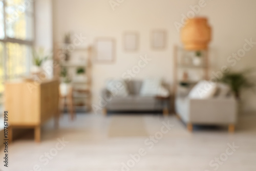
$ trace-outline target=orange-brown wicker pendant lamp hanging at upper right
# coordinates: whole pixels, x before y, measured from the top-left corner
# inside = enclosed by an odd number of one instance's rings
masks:
[[[206,50],[211,40],[211,28],[205,17],[187,19],[181,29],[181,41],[185,50]]]

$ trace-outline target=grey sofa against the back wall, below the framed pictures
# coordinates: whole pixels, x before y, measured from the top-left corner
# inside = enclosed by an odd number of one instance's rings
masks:
[[[129,95],[126,97],[113,97],[106,105],[104,114],[108,112],[130,112],[130,111],[163,111],[168,113],[169,100],[160,100],[152,96],[140,96],[142,80],[132,80],[126,82]],[[106,89],[102,90],[102,97],[110,96],[110,92]]]

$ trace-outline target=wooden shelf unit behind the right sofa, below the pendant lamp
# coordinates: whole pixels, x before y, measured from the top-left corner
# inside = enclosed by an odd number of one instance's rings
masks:
[[[174,94],[187,95],[200,80],[209,79],[208,50],[187,51],[174,46]]]

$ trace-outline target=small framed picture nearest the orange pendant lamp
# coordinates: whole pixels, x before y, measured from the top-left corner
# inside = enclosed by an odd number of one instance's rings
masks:
[[[165,30],[152,31],[151,47],[153,50],[163,50],[166,48],[167,33]]]

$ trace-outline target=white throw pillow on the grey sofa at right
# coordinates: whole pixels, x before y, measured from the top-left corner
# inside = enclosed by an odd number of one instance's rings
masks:
[[[207,99],[215,95],[217,83],[202,80],[189,92],[188,97],[191,99]]]

